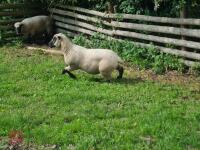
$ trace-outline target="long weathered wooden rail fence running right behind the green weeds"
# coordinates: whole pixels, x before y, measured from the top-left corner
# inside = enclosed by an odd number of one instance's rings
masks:
[[[99,32],[112,39],[128,38],[142,47],[152,47],[153,43],[164,53],[185,58],[184,63],[189,66],[200,61],[200,19],[108,14],[72,6],[56,6],[50,12],[57,32],[71,36]]]

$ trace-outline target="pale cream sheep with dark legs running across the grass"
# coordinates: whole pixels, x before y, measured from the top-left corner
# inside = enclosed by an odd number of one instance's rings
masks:
[[[76,78],[71,71],[83,70],[89,74],[101,74],[106,81],[110,81],[114,70],[119,72],[117,79],[121,79],[124,73],[122,59],[112,50],[87,49],[75,45],[63,33],[55,34],[49,42],[49,47],[59,48],[64,54],[67,67],[62,74],[68,73],[71,78]]]

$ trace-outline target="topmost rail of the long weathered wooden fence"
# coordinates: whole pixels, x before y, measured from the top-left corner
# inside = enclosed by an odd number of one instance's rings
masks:
[[[200,19],[181,19],[181,18],[168,18],[168,17],[153,17],[153,16],[145,16],[145,15],[133,15],[133,14],[107,14],[102,13],[94,10],[89,10],[80,7],[73,7],[73,6],[57,6],[60,8],[66,8],[73,11],[83,12],[90,15],[95,15],[103,18],[110,18],[110,19],[130,19],[130,20],[140,20],[140,21],[147,21],[147,22],[155,22],[155,23],[167,23],[167,24],[177,24],[177,25],[200,25]]]

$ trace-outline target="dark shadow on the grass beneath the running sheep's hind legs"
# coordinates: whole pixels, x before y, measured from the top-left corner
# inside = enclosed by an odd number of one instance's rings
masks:
[[[134,85],[140,82],[144,82],[142,78],[122,78],[122,79],[112,79],[111,81],[105,81],[102,78],[90,78],[89,80],[98,83],[125,84],[125,85]]]

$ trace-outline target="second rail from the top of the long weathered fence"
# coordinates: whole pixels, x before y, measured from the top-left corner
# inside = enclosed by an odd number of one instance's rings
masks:
[[[103,23],[110,27],[117,27],[117,28],[126,28],[126,29],[134,29],[139,31],[149,31],[149,32],[156,32],[156,33],[167,33],[173,35],[185,35],[189,37],[197,37],[200,38],[200,30],[195,29],[183,29],[183,28],[176,28],[176,27],[167,27],[167,26],[158,26],[158,25],[145,25],[145,24],[136,24],[136,23],[126,23],[126,22],[117,22],[117,21],[102,21],[100,19],[96,19],[94,17],[88,17],[80,14],[76,14],[69,11],[63,10],[53,10],[54,13],[58,13],[61,15],[66,15],[70,17],[76,17],[77,19],[82,19],[85,21],[91,21],[94,23]],[[65,22],[65,17],[61,17],[58,15],[53,15],[54,19]]]

